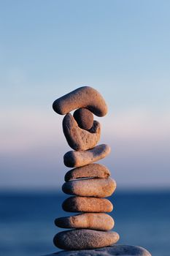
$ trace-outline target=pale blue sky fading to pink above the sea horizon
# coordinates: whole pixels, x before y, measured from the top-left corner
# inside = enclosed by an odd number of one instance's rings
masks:
[[[61,189],[55,99],[92,86],[117,189],[170,186],[170,2],[0,1],[0,187]]]

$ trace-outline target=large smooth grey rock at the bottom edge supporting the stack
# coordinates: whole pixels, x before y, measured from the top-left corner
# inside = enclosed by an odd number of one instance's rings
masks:
[[[139,246],[115,244],[100,249],[85,249],[79,251],[61,251],[45,256],[151,256],[150,252]]]

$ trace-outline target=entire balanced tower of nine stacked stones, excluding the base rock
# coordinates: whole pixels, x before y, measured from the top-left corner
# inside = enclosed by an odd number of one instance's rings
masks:
[[[79,213],[55,219],[58,227],[69,228],[55,235],[55,246],[66,250],[95,249],[115,244],[119,240],[114,220],[106,213],[112,203],[104,198],[115,191],[116,183],[104,165],[94,163],[107,157],[109,146],[96,146],[101,135],[101,125],[93,121],[93,114],[105,116],[107,105],[101,94],[83,86],[56,99],[53,110],[63,118],[63,133],[74,151],[63,157],[66,167],[73,167],[65,176],[63,192],[71,197],[63,202],[63,210]],[[72,110],[74,114],[70,113]]]

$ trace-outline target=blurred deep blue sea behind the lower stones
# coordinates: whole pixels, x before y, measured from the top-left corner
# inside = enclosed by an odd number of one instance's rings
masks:
[[[0,192],[0,255],[31,256],[57,252],[56,217],[66,195],[58,192]],[[139,245],[152,256],[170,255],[170,191],[117,191],[112,200],[118,244]],[[71,214],[70,214],[71,215]]]

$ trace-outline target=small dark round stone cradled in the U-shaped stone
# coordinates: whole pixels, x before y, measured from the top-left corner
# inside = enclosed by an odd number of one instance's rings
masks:
[[[74,119],[81,129],[91,129],[93,127],[93,113],[87,108],[79,108],[74,111]]]

